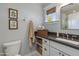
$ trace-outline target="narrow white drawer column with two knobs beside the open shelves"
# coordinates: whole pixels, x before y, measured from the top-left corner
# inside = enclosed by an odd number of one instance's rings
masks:
[[[50,51],[50,50],[49,50],[49,47],[50,47],[50,45],[49,45],[49,40],[48,40],[48,39],[44,39],[44,38],[42,38],[42,40],[43,40],[43,44],[42,44],[42,45],[43,45],[43,46],[42,46],[42,47],[43,47],[43,48],[42,48],[42,49],[43,49],[43,50],[42,50],[43,52],[42,52],[42,55],[43,55],[43,56],[49,56],[49,55],[50,55],[50,54],[49,54],[49,51]]]

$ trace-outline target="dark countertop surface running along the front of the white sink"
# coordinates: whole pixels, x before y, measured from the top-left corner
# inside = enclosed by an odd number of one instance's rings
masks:
[[[41,37],[41,36],[39,36],[39,37]],[[72,48],[79,50],[79,45],[74,45],[74,44],[70,44],[70,43],[67,43],[67,42],[62,42],[62,41],[56,40],[57,37],[55,37],[55,36],[48,35],[48,36],[45,36],[45,37],[42,37],[42,38],[46,38],[50,41],[54,41],[54,42],[57,42],[57,43],[60,43],[60,44],[63,44],[63,45],[66,45],[66,46],[69,46],[69,47],[72,47]]]

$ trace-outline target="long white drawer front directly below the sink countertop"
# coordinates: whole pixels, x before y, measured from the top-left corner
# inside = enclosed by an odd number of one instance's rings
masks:
[[[59,49],[60,51],[67,53],[68,55],[79,56],[79,50],[69,47],[69,46],[66,46],[64,44],[50,41],[50,46],[55,47],[55,48]]]

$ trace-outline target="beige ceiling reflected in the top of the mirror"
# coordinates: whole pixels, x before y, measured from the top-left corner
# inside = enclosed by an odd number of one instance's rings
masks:
[[[62,13],[70,14],[75,12],[79,12],[79,3],[71,3],[61,8]]]

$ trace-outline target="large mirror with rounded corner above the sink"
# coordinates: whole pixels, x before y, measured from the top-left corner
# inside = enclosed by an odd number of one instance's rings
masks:
[[[70,3],[61,7],[61,28],[79,29],[79,4]]]

